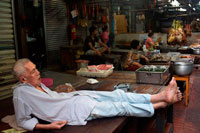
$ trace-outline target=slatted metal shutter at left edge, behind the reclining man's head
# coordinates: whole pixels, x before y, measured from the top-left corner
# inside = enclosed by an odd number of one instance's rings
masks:
[[[15,83],[12,66],[15,63],[13,0],[0,1],[0,100],[12,96]]]

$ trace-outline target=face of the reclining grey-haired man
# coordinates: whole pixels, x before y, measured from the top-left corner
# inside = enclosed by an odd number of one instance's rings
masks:
[[[24,82],[33,85],[34,87],[40,86],[40,72],[37,70],[35,64],[28,62],[24,65],[26,72],[24,74]]]

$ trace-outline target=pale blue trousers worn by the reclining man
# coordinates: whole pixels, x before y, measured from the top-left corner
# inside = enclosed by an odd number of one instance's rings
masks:
[[[151,117],[154,114],[149,94],[127,93],[117,89],[112,92],[98,91],[97,95],[100,98],[93,98],[98,103],[87,120],[113,116]]]

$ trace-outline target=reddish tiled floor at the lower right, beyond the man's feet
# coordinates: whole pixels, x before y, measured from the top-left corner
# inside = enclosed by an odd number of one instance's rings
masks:
[[[190,77],[188,107],[183,102],[174,105],[174,133],[200,133],[200,70]]]

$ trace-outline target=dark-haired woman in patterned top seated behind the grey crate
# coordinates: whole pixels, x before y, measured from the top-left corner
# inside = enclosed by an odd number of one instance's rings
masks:
[[[138,54],[140,47],[140,42],[138,40],[133,40],[131,42],[131,51],[128,53],[124,63],[125,70],[135,71],[149,62],[147,57]]]

